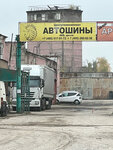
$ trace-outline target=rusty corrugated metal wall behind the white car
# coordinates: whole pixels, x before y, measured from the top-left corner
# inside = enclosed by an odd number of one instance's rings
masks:
[[[64,90],[77,90],[84,99],[112,99],[113,78],[61,78],[60,92]]]

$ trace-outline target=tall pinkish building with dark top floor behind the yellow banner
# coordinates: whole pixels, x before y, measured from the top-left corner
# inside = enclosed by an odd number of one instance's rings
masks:
[[[48,9],[32,7],[27,11],[27,22],[81,22],[82,11],[79,7]],[[60,57],[60,70],[63,72],[78,72],[82,67],[82,42],[28,42],[28,51],[38,55]]]

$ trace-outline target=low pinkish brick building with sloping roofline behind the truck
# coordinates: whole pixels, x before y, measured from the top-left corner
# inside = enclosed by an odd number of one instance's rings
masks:
[[[16,70],[17,42],[5,41],[6,38],[6,36],[0,34],[0,68]],[[58,57],[56,58],[58,59]],[[58,68],[59,65],[57,65],[55,59],[52,60],[30,52],[25,48],[24,44],[21,48],[21,64],[47,65],[53,68],[57,72],[57,91],[59,91],[60,73]]]

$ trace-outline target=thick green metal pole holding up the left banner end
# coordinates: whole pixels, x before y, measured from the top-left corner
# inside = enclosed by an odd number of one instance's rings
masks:
[[[16,69],[17,69],[17,104],[16,111],[21,113],[21,42],[19,35],[16,36],[17,51],[16,51]]]

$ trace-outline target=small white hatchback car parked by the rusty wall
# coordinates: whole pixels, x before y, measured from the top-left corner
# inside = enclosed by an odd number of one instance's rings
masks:
[[[82,96],[77,91],[63,91],[56,96],[56,101],[57,103],[70,102],[74,104],[80,104],[82,102]]]

